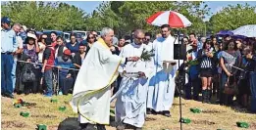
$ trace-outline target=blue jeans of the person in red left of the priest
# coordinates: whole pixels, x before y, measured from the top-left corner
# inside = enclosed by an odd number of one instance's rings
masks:
[[[52,68],[44,71],[44,81],[46,85],[46,95],[52,95],[53,88],[53,78],[52,78]]]

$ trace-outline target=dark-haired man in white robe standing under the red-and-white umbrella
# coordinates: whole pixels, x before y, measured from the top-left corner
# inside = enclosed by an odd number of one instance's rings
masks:
[[[170,117],[178,65],[176,64],[177,61],[174,60],[175,38],[171,35],[170,25],[162,25],[161,33],[162,37],[153,42],[155,73],[149,81],[147,113],[161,113]]]

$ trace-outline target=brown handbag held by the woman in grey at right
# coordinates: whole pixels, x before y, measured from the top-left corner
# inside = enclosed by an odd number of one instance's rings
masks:
[[[238,94],[238,87],[237,83],[235,81],[234,76],[228,77],[227,82],[225,83],[224,86],[224,93],[227,95],[237,95]]]

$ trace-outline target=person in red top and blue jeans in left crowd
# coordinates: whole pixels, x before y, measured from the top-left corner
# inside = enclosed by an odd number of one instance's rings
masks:
[[[54,65],[55,50],[52,46],[52,40],[50,38],[46,39],[46,45],[47,47],[43,52],[43,66],[41,72],[43,74],[44,82],[46,84],[46,93],[44,96],[52,97],[53,77],[51,65]]]

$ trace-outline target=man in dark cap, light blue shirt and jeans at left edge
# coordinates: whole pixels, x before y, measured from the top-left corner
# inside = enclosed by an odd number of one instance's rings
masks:
[[[16,33],[11,28],[11,20],[8,17],[1,19],[1,95],[14,98],[12,69],[14,64],[15,51],[18,48]]]

